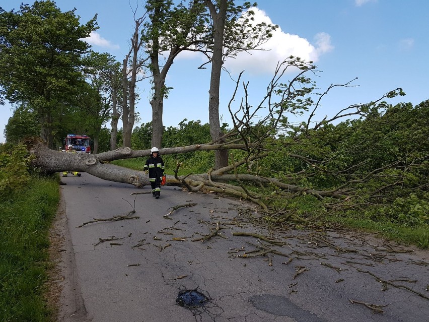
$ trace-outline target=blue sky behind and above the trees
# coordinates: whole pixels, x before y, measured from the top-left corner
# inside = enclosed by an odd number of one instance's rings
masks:
[[[16,0],[4,2],[0,7],[7,11],[18,9],[21,4]],[[138,3],[142,14],[142,4]],[[100,28],[88,42],[94,50],[109,52],[122,61],[129,49],[133,29],[131,6],[135,8],[135,1],[58,0],[56,4],[62,11],[75,7],[81,23],[97,13]],[[428,1],[261,0],[258,9],[257,19],[279,26],[273,39],[264,45],[271,50],[255,51],[251,55],[243,53],[225,64],[233,78],[245,70],[242,81],[250,82],[249,99],[253,104],[264,94],[276,62],[291,54],[313,60],[318,66],[319,91],[330,84],[358,78],[352,83],[358,87],[331,91],[322,101],[315,120],[332,116],[349,105],[378,99],[398,87],[407,95],[390,99],[388,103],[415,105],[429,99]],[[184,54],[176,58],[166,80],[166,85],[173,89],[164,103],[164,125],[177,126],[184,118],[208,122],[210,71],[197,70],[201,63],[200,56]],[[232,124],[227,105],[235,84],[227,74],[223,74],[221,84],[220,114],[223,122]],[[140,83],[137,112],[141,121],[135,125],[151,120],[148,88],[147,84]],[[1,106],[0,142],[4,141],[3,131],[10,116],[11,105]]]

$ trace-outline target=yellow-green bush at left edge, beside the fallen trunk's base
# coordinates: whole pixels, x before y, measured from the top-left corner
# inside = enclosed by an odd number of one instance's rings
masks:
[[[0,202],[26,188],[32,159],[25,145],[0,145]]]

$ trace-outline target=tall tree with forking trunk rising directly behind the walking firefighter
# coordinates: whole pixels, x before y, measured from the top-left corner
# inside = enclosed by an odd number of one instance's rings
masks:
[[[149,0],[146,9],[150,21],[144,24],[142,39],[147,44],[150,57],[147,67],[152,74],[152,146],[161,147],[163,104],[170,89],[165,84],[167,73],[181,51],[200,46],[198,38],[204,33],[205,8],[201,0],[190,1],[188,7],[182,3],[174,7],[171,0]]]

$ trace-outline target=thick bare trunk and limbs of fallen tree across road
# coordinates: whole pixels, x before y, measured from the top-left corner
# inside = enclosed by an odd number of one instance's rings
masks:
[[[167,148],[161,151],[162,154],[176,154],[186,153],[189,151],[196,150],[215,150],[224,148],[243,148],[244,145],[231,145],[231,146],[216,146],[216,145],[193,145],[187,147]],[[30,143],[29,150],[35,155],[31,164],[42,171],[47,173],[55,173],[61,171],[80,171],[92,174],[98,178],[114,181],[129,183],[134,186],[142,187],[150,185],[149,177],[143,171],[131,170],[122,167],[116,167],[111,165],[105,165],[104,161],[118,160],[131,157],[142,157],[149,156],[150,150],[139,150],[133,151],[127,147],[120,147],[115,151],[103,152],[100,154],[87,154],[87,153],[62,153],[48,149],[41,142]],[[344,192],[339,190],[320,191],[313,190],[307,187],[300,187],[292,184],[285,184],[274,178],[265,178],[255,176],[251,174],[215,174],[212,172],[202,174],[192,174],[180,177],[174,177],[171,175],[167,176],[167,185],[185,185],[193,191],[198,190],[211,190],[237,197],[247,198],[246,192],[240,186],[233,186],[225,183],[226,181],[233,180],[251,181],[257,184],[275,184],[282,189],[288,189],[290,191],[306,192],[307,194],[313,194],[323,197],[335,197],[339,198],[345,196]],[[215,181],[216,180],[216,181]],[[221,183],[224,182],[224,183]]]

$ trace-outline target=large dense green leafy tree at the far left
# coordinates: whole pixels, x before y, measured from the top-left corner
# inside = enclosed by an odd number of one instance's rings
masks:
[[[82,39],[97,29],[96,16],[81,25],[75,11],[63,13],[50,0],[17,12],[0,8],[0,96],[34,109],[49,147],[52,111],[84,82],[81,55],[89,45]]]

